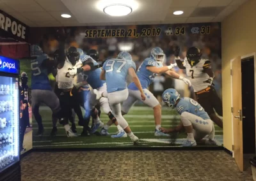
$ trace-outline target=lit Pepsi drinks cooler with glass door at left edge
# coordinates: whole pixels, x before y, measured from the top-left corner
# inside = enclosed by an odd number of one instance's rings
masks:
[[[0,173],[18,163],[19,61],[0,56]]]

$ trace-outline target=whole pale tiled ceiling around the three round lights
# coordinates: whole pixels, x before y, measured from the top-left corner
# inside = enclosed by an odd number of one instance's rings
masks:
[[[248,0],[0,0],[0,10],[31,27],[176,24],[221,22]],[[108,4],[132,7],[126,17],[110,17],[102,10]],[[173,15],[182,10],[184,14]],[[71,18],[60,15],[68,13]]]

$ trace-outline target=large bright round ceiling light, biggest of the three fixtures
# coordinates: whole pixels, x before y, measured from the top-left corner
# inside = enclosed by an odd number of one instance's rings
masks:
[[[132,8],[125,4],[111,4],[106,6],[103,11],[112,17],[122,17],[129,15],[132,12]]]

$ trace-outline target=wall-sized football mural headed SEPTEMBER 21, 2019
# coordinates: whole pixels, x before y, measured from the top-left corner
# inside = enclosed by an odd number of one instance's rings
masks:
[[[223,145],[221,24],[30,32],[33,148]]]

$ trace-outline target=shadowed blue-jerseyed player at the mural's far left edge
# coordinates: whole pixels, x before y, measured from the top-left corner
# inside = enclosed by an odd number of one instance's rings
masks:
[[[32,57],[35,57],[35,59],[31,61],[32,112],[38,124],[38,132],[36,134],[42,135],[44,134],[44,126],[42,124],[42,117],[39,113],[39,106],[41,103],[49,106],[54,116],[61,119],[60,101],[52,91],[51,83],[48,78],[55,62],[51,61],[38,45],[31,45],[31,55]],[[52,132],[55,132],[54,129],[52,129]]]

